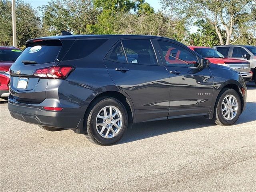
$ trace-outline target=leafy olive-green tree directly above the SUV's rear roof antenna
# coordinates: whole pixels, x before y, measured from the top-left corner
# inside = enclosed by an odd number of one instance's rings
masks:
[[[42,24],[48,35],[61,30],[73,34],[90,34],[100,14],[92,0],[51,0],[41,7]]]

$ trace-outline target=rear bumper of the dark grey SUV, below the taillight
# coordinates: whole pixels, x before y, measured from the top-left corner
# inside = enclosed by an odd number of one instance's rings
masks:
[[[62,111],[47,111],[42,107],[18,104],[9,99],[8,109],[13,118],[54,128],[82,130],[84,113],[78,108],[64,108]]]

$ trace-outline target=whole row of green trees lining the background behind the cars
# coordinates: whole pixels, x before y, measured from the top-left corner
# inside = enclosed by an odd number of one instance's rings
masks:
[[[28,39],[73,34],[141,34],[164,36],[184,44],[256,43],[253,0],[160,0],[155,12],[145,0],[49,0],[38,12],[16,0],[18,46]],[[0,45],[12,45],[12,4],[0,0]],[[197,20],[196,23],[191,22]],[[192,23],[192,24],[191,24]],[[198,32],[190,34],[190,26]]]

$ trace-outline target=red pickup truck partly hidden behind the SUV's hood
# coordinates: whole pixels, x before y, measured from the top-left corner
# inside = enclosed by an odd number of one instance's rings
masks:
[[[190,49],[194,50],[204,58],[210,60],[213,64],[228,66],[238,72],[244,78],[244,81],[247,83],[252,80],[252,72],[250,71],[250,62],[245,60],[239,60],[234,58],[224,57],[217,50],[210,47],[201,47],[201,46],[188,46]]]

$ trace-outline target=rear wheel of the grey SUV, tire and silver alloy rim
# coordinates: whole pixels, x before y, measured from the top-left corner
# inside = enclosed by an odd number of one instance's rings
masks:
[[[127,129],[128,114],[119,100],[111,97],[99,98],[89,110],[84,126],[88,140],[107,146],[122,138]]]

